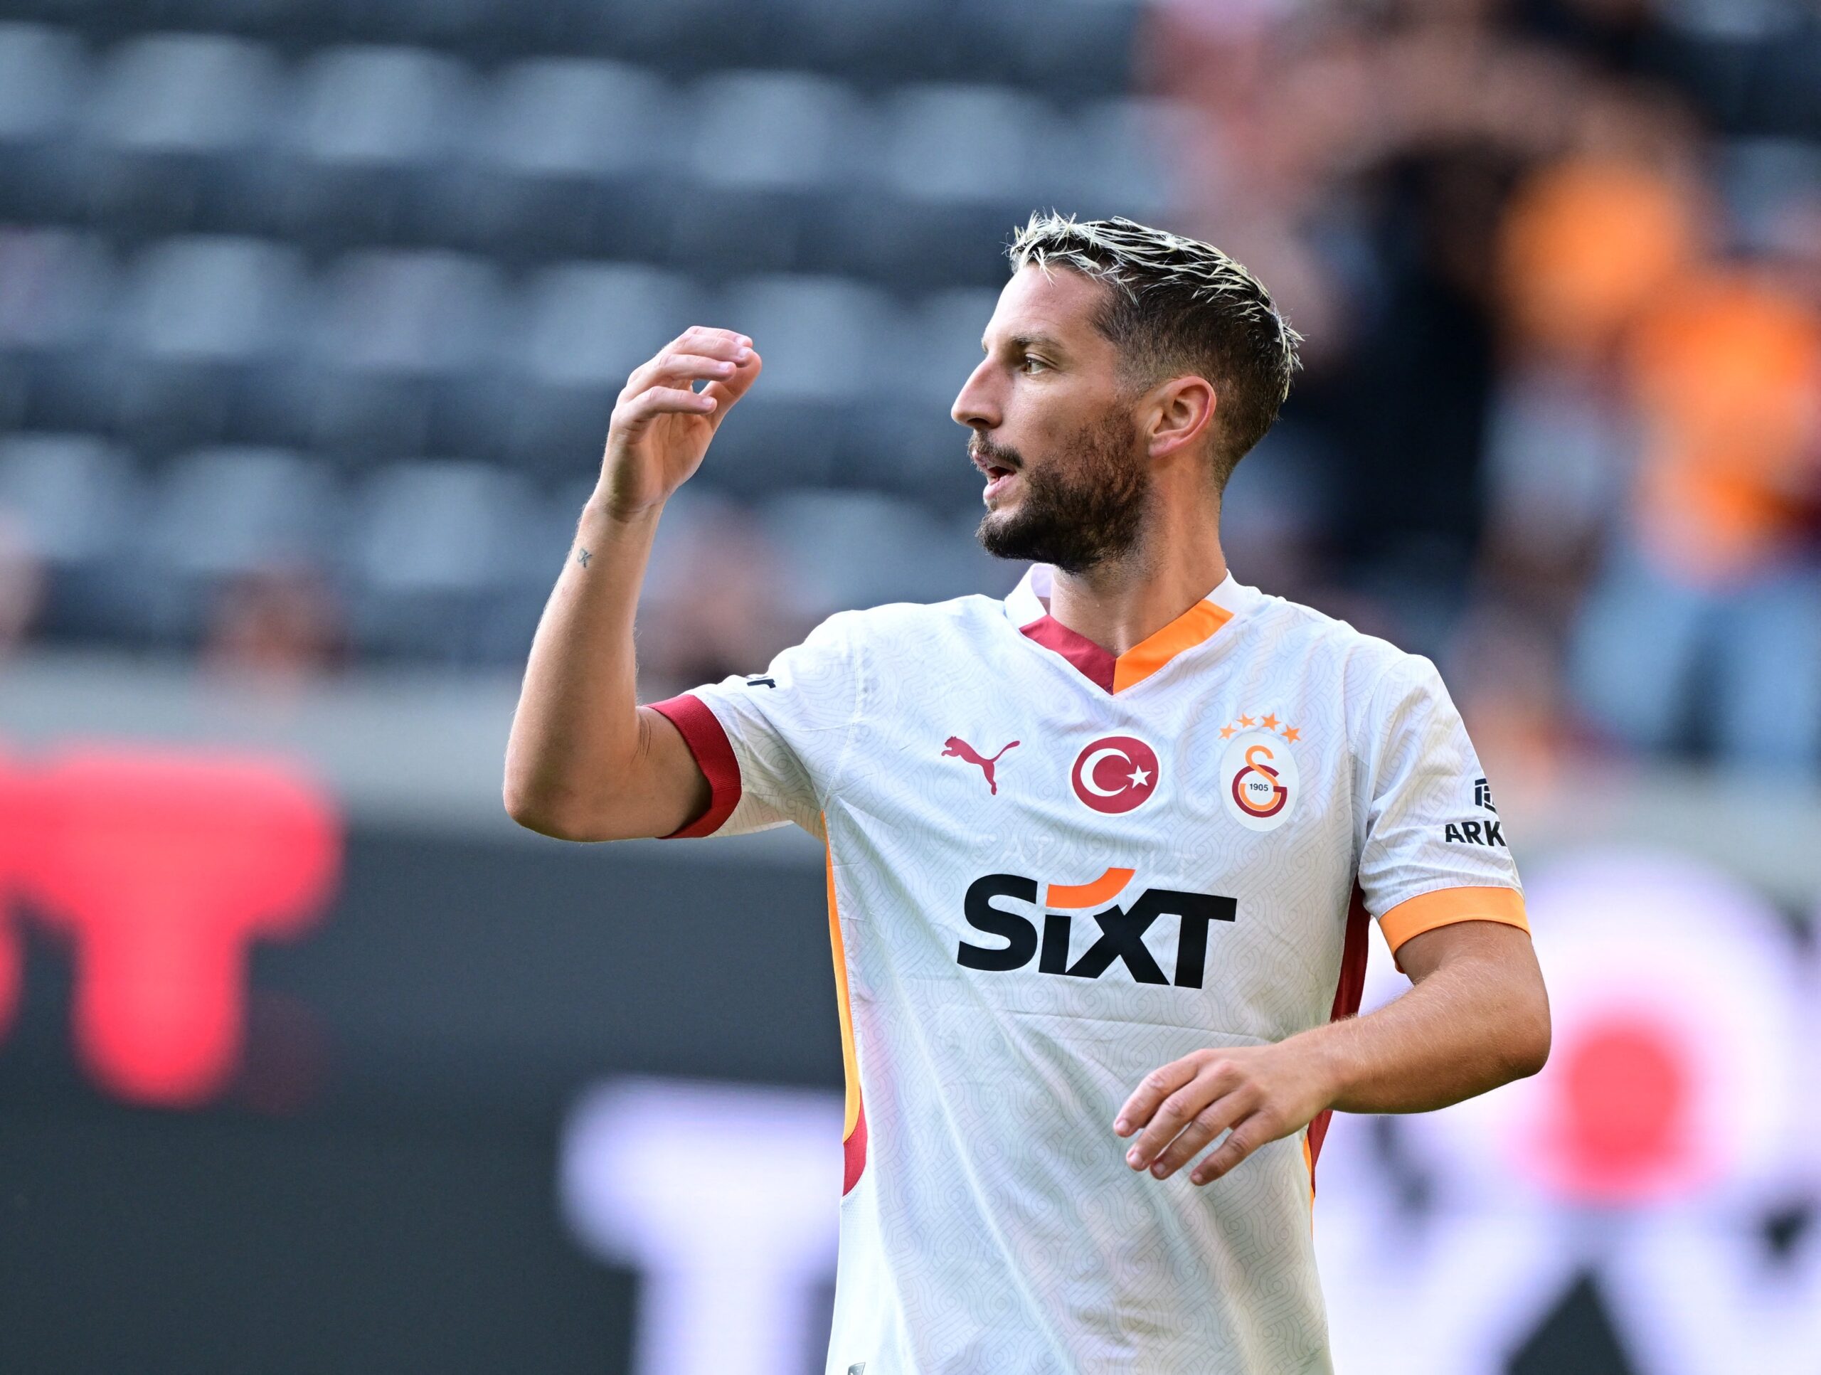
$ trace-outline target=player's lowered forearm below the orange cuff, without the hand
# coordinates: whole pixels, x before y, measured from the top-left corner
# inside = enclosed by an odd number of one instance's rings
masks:
[[[1318,1065],[1331,1107],[1428,1113],[1537,1073],[1548,1056],[1550,1009],[1541,976],[1513,976],[1510,960],[1471,954],[1433,969],[1375,1013],[1284,1045]]]

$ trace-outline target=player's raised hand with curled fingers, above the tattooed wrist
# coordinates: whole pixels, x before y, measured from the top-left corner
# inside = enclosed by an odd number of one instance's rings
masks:
[[[599,495],[630,519],[665,503],[701,466],[708,441],[761,368],[752,341],[692,326],[639,366],[614,406]],[[707,382],[701,392],[694,382]]]

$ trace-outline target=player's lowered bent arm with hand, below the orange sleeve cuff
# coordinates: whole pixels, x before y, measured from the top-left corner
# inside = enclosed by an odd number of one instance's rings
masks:
[[[1542,1069],[1550,1000],[1530,932],[1455,922],[1406,940],[1397,962],[1415,987],[1375,1013],[1145,1075],[1113,1124],[1138,1133],[1125,1164],[1167,1178],[1226,1131],[1189,1175],[1207,1184],[1329,1107],[1428,1113]]]

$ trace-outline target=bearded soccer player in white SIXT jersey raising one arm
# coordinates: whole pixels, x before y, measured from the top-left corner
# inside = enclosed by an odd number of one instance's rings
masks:
[[[659,514],[759,381],[752,339],[687,330],[614,408],[506,810],[827,845],[832,1375],[1326,1371],[1329,1111],[1548,1054],[1517,871],[1435,667],[1227,572],[1222,486],[1297,366],[1264,286],[1125,219],[1033,217],[1011,262],[952,415],[1020,586],[637,707]],[[1355,1016],[1369,920],[1413,987]]]

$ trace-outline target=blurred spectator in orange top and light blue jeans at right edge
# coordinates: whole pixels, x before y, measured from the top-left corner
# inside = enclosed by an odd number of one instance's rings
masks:
[[[1588,710],[1639,749],[1821,765],[1821,317],[1757,271],[1641,322],[1632,510],[1575,647]]]

